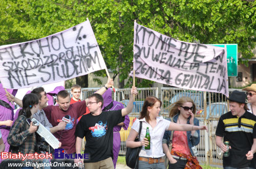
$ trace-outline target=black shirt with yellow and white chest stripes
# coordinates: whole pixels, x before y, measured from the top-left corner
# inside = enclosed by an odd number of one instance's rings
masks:
[[[256,116],[248,111],[240,118],[233,116],[231,111],[220,117],[216,135],[228,141],[229,157],[223,157],[223,166],[254,167],[253,160],[247,160],[246,154],[250,151],[253,138],[256,138]]]

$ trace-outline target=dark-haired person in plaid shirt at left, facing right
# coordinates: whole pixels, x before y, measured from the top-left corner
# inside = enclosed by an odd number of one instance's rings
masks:
[[[18,118],[11,127],[8,135],[8,143],[11,146],[18,147],[18,152],[23,153],[35,153],[36,135],[35,132],[38,126],[34,126],[33,122],[30,125],[27,123],[27,119],[31,118],[38,110],[39,101],[36,94],[27,94],[24,96],[22,103],[23,109],[18,112]],[[14,152],[13,152],[14,153]],[[25,162],[26,163],[26,160]],[[33,167],[22,167],[33,168]]]

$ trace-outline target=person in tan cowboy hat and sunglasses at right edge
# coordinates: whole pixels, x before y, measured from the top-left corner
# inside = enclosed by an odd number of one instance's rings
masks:
[[[256,83],[251,84],[251,86],[246,87],[242,90],[247,92],[246,95],[249,103],[248,111],[251,112],[253,115],[256,115]]]

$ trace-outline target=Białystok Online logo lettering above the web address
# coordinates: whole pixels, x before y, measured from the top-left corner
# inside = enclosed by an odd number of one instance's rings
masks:
[[[18,153],[11,153],[11,152],[2,152],[1,153],[2,159],[20,159],[24,161],[25,159],[52,159],[52,154],[46,152],[45,154],[41,153],[28,153],[22,154]],[[68,154],[64,151],[64,149],[55,149],[54,150],[54,158],[55,159],[89,159],[90,156],[88,153],[86,154]]]

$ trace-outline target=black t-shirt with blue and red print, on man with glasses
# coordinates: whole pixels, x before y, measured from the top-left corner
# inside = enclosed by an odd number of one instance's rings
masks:
[[[124,121],[121,109],[116,111],[102,111],[100,115],[83,115],[76,126],[75,135],[86,136],[84,153],[89,153],[90,160],[97,162],[106,158],[113,158],[113,128]]]

